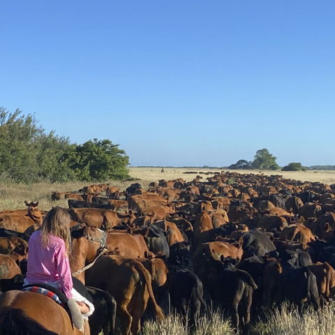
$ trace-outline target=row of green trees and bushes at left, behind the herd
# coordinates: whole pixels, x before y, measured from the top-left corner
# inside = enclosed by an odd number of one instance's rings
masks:
[[[129,157],[110,140],[71,143],[69,137],[47,133],[34,115],[0,107],[0,179],[31,183],[122,180]]]

